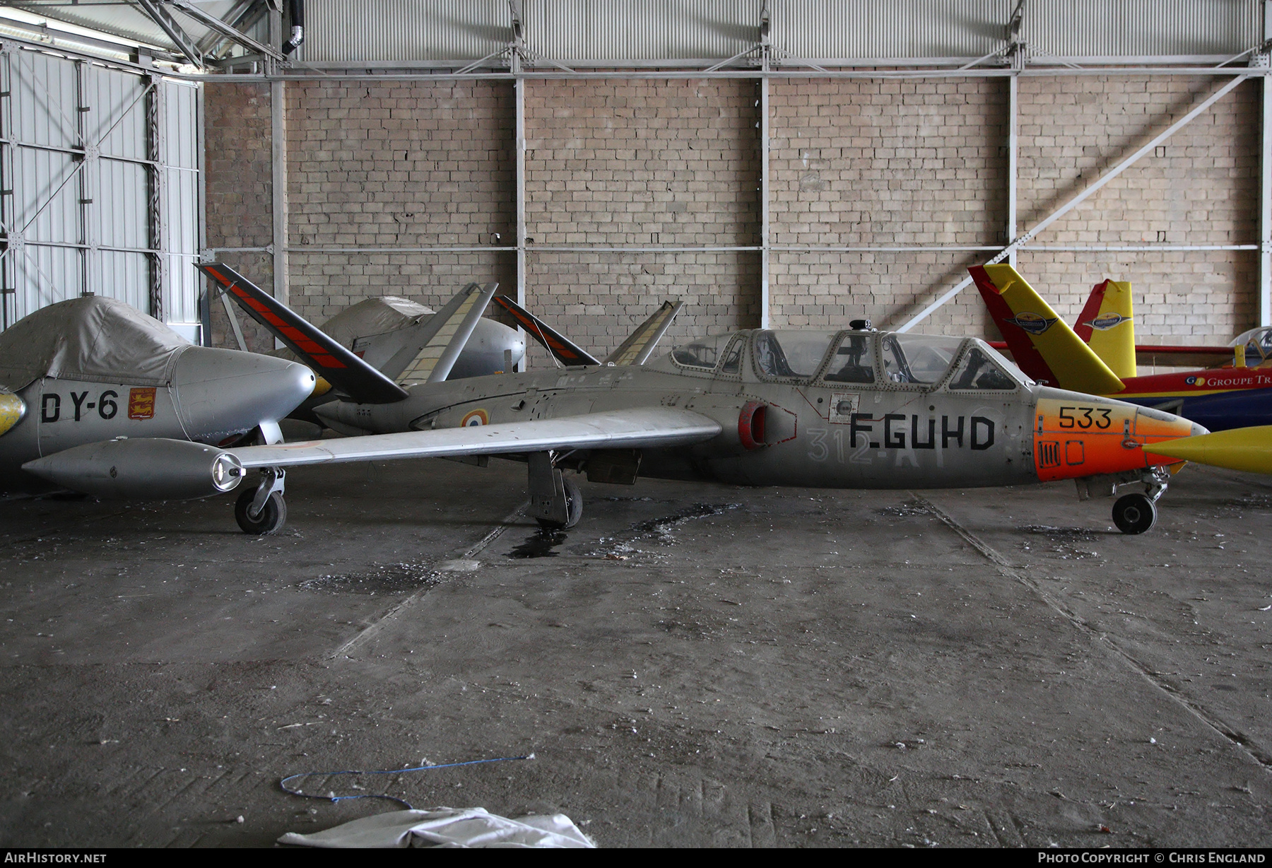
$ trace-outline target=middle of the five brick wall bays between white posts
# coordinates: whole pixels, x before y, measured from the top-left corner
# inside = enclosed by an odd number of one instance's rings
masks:
[[[541,246],[754,246],[756,84],[533,81],[525,99],[527,237]],[[527,300],[597,355],[667,298],[664,339],[759,318],[758,255],[539,251]]]

